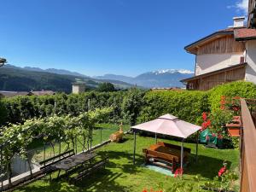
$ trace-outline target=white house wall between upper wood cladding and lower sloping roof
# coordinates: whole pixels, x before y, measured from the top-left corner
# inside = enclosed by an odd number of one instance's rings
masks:
[[[232,65],[237,65],[240,63],[241,56],[244,56],[244,54],[227,53],[196,55],[195,75],[201,75]]]

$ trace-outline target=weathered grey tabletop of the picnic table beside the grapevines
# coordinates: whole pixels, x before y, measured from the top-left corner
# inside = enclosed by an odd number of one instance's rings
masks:
[[[55,168],[58,170],[64,170],[68,171],[72,169],[75,166],[79,166],[83,163],[85,163],[88,160],[92,160],[96,157],[96,154],[94,153],[81,153],[81,154],[75,154],[71,157],[68,157],[67,159],[61,160],[57,163],[55,163]]]

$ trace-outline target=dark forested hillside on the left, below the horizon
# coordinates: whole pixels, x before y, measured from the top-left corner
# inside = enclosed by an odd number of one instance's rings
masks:
[[[48,69],[49,70],[49,69]],[[74,75],[66,70],[50,69],[51,73],[34,67],[15,67],[6,65],[0,68],[0,90],[30,91],[30,90],[54,90],[70,93],[72,83],[84,81],[88,89],[94,89],[102,82],[110,82],[117,89],[130,88],[132,85],[118,80],[92,79],[83,74]],[[53,73],[56,72],[56,73]],[[58,74],[67,73],[67,74]],[[68,74],[69,73],[69,74]],[[71,73],[73,75],[71,75]]]

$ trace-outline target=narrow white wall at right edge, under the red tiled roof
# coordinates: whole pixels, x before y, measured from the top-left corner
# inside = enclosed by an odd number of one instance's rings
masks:
[[[247,41],[247,69],[245,79],[256,84],[256,40]]]

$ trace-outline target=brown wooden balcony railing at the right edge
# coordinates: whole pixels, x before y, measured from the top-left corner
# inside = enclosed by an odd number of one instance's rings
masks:
[[[256,128],[247,102],[241,99],[241,192],[256,191]]]

